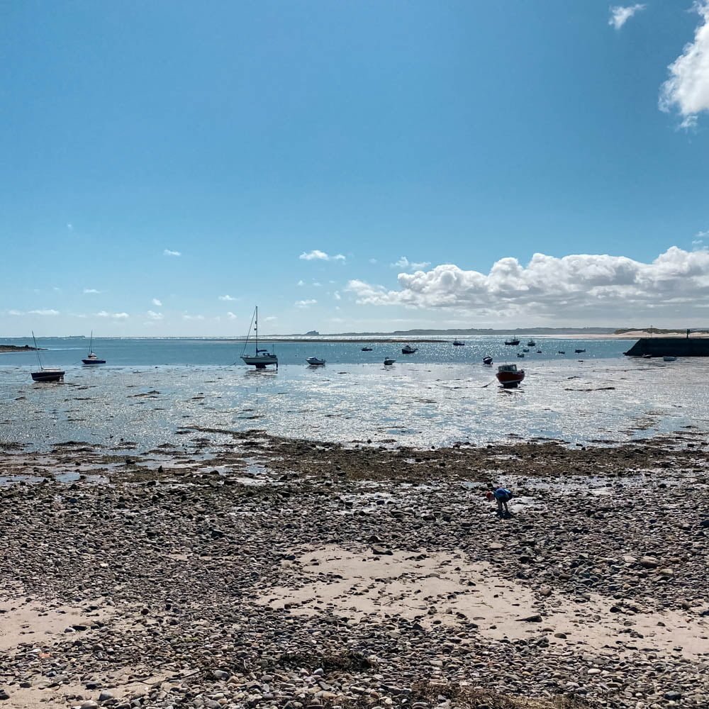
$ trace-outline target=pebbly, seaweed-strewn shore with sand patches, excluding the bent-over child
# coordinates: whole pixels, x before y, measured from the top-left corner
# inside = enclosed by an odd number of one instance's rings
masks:
[[[0,445],[0,705],[705,707],[708,445]]]

